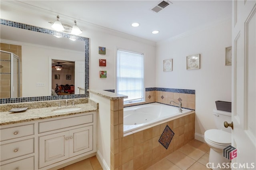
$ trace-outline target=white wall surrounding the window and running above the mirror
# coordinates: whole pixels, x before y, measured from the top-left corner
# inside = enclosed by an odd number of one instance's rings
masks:
[[[19,6],[1,5],[1,18],[22,22],[34,26],[40,26],[52,30],[49,21],[56,19],[56,13],[38,11],[25,11]],[[57,11],[56,11],[57,12]],[[20,17],[22,16],[22,17]],[[74,16],[76,17],[76,16]],[[72,24],[74,18],[63,16],[61,22]],[[90,89],[114,89],[115,88],[115,57],[116,47],[144,53],[145,56],[145,87],[155,87],[155,56],[156,43],[142,38],[137,38],[114,30],[95,26],[77,20],[83,33],[79,36],[90,38]],[[106,55],[98,54],[98,47],[106,47]],[[99,67],[99,59],[106,59],[106,67]],[[106,70],[107,78],[101,78],[99,71]]]

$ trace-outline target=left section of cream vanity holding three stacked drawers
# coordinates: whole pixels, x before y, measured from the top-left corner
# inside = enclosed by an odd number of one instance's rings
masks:
[[[0,169],[34,170],[34,123],[0,128]]]

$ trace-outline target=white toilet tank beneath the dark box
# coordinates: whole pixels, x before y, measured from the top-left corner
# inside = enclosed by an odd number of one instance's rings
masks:
[[[213,110],[214,123],[217,129],[231,133],[231,127],[225,128],[224,121],[231,123],[231,112]]]

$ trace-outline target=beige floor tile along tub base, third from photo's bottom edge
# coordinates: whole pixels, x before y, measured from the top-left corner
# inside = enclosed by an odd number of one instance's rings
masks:
[[[199,158],[201,158],[205,152],[203,152],[202,150],[199,150],[189,144],[186,144],[184,146],[182,146],[181,148],[178,149],[180,152],[188,155],[190,158],[193,158],[194,160],[198,160]]]

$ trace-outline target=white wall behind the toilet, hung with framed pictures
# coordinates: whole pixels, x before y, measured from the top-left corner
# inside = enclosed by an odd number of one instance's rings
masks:
[[[196,133],[215,128],[215,101],[231,101],[231,66],[225,47],[232,45],[231,21],[159,42],[156,47],[156,87],[196,90]],[[201,54],[201,69],[186,70],[186,56]],[[163,72],[163,60],[173,59],[173,71]]]

